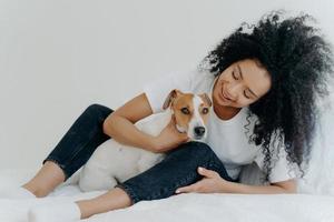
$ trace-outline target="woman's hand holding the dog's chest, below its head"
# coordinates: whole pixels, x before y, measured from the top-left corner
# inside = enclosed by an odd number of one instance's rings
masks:
[[[155,152],[166,152],[188,141],[190,141],[190,139],[187,133],[180,133],[176,129],[175,117],[173,115],[168,125],[155,138]]]

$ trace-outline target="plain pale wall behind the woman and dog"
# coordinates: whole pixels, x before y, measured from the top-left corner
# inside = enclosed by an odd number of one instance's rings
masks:
[[[116,109],[273,9],[334,43],[332,0],[0,0],[0,169],[39,168],[89,104]]]

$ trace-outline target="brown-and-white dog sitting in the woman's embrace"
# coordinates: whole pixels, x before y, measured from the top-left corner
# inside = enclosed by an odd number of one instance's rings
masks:
[[[169,109],[168,109],[169,108]],[[135,123],[140,131],[157,137],[175,118],[176,129],[190,141],[204,141],[212,101],[206,93],[183,93],[174,89],[166,98],[163,112]],[[110,190],[154,167],[165,153],[150,152],[109,139],[100,144],[79,173],[79,188],[85,191]]]

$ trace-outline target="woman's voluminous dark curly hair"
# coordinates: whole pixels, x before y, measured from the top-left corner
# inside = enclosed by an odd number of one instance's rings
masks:
[[[244,59],[255,59],[268,70],[272,88],[249,105],[247,117],[248,122],[253,114],[257,117],[249,142],[262,145],[265,181],[275,164],[273,140],[284,144],[287,161],[296,163],[304,176],[303,165],[308,165],[318,117],[316,100],[328,95],[327,82],[333,78],[331,44],[317,33],[318,29],[306,24],[315,19],[302,13],[279,21],[282,13],[273,11],[253,26],[244,22],[202,63],[215,77]]]

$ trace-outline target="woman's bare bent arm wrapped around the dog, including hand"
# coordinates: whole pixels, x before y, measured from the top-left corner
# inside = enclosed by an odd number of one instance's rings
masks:
[[[187,133],[179,133],[175,128],[174,119],[158,137],[149,135],[134,125],[138,120],[150,114],[153,114],[153,110],[148,99],[145,93],[141,93],[105,120],[104,132],[120,143],[151,152],[166,152],[188,141]]]

